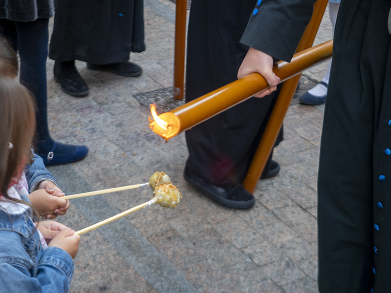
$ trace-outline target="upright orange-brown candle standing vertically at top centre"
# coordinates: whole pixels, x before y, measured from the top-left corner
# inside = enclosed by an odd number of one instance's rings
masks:
[[[174,53],[174,98],[182,100],[185,88],[185,43],[187,0],[176,0],[175,53]]]

